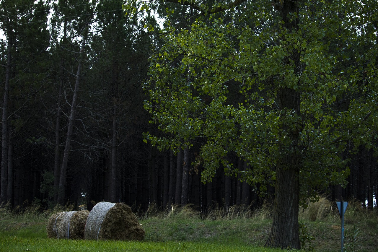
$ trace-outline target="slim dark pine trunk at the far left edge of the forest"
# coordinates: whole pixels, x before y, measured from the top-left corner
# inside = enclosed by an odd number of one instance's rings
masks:
[[[8,33],[10,36],[10,33]],[[8,102],[9,102],[9,82],[11,78],[11,47],[12,38],[8,37],[8,50],[6,54],[6,74],[4,83],[4,100],[2,115],[2,149],[1,149],[1,185],[0,204],[6,203],[8,188]]]

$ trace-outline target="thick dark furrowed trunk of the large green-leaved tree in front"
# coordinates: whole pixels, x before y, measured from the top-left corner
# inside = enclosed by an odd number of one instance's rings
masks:
[[[280,15],[283,21],[283,28],[287,32],[294,33],[298,29],[299,18],[291,17],[290,13],[299,13],[297,1],[283,0],[279,3]],[[290,56],[284,60],[284,64],[296,65],[294,73],[299,74],[300,53],[297,49],[293,49]],[[283,80],[284,81],[284,80]],[[295,113],[301,118],[300,111],[300,93],[285,85],[282,85],[278,93],[279,113],[289,114]],[[285,119],[282,117],[282,121]],[[299,119],[299,121],[301,121]],[[279,146],[281,157],[276,163],[276,190],[273,205],[273,223],[271,232],[265,246],[279,247],[286,249],[300,249],[299,240],[299,163],[301,162],[301,154],[297,150],[299,125],[290,125],[282,123],[281,132],[287,132],[292,144],[291,146]]]

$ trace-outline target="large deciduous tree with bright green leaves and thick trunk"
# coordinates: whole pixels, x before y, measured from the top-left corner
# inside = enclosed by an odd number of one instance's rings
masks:
[[[299,249],[300,199],[344,186],[345,143],[371,146],[376,137],[375,23],[356,20],[368,2],[169,2],[191,6],[197,20],[176,31],[167,16],[144,86],[145,108],[165,135],[146,140],[161,149],[200,140],[204,182],[225,167],[260,191],[274,185],[266,246]],[[229,153],[248,168],[238,170]]]

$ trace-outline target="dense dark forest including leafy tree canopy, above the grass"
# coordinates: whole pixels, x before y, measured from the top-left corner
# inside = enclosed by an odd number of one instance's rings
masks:
[[[0,29],[2,204],[376,207],[374,1],[3,0]]]

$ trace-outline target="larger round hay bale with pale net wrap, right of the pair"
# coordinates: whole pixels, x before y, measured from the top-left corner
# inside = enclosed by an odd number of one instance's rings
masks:
[[[144,230],[128,205],[99,202],[88,215],[84,239],[141,241]]]

